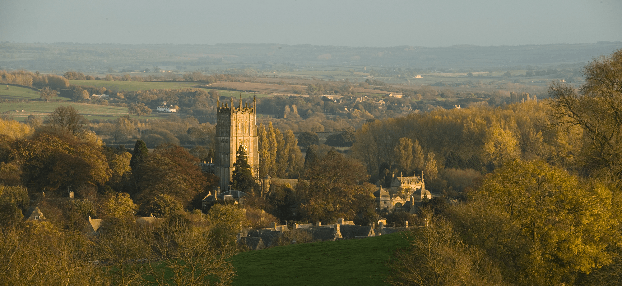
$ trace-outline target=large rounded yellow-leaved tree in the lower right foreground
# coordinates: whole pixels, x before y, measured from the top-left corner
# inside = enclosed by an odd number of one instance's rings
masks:
[[[619,237],[613,204],[601,182],[579,182],[542,161],[514,161],[487,176],[470,210],[453,221],[469,243],[502,262],[506,280],[560,285],[610,262],[608,245]]]

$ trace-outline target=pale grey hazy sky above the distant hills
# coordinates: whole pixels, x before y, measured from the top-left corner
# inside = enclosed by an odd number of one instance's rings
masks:
[[[0,0],[0,41],[392,47],[622,41],[622,0]]]

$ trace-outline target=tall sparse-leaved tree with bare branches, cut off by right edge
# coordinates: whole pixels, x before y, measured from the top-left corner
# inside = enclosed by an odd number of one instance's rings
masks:
[[[580,126],[586,143],[578,168],[587,174],[604,174],[622,180],[622,50],[595,58],[583,69],[585,84],[577,91],[552,83],[551,125]]]

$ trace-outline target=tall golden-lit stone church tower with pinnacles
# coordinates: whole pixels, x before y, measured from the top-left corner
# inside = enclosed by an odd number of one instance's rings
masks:
[[[216,101],[216,150],[214,167],[216,176],[220,177],[220,188],[223,191],[230,190],[231,176],[233,176],[233,163],[236,161],[238,148],[244,146],[248,154],[248,163],[251,165],[253,177],[259,177],[259,152],[257,141],[257,99],[253,99],[253,106],[242,104],[239,98],[238,107],[220,104]]]

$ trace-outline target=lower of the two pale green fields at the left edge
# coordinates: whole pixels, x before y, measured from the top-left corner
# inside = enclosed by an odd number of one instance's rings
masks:
[[[4,102],[0,104],[0,113],[1,112],[10,112],[10,115],[13,119],[22,121],[26,120],[28,115],[32,114],[37,117],[45,117],[50,114],[56,107],[59,105],[71,105],[73,108],[77,109],[78,112],[82,116],[84,116],[88,120],[93,119],[116,119],[118,117],[122,117],[128,114],[128,109],[126,107],[115,107],[108,105],[96,105],[96,104],[86,104],[86,103],[75,103],[75,102],[38,102],[38,101],[30,101],[30,102]],[[15,110],[19,110],[19,112],[15,112]],[[24,110],[22,112],[21,110]],[[153,112],[150,115],[141,116],[142,118],[166,118],[168,114],[162,114]],[[136,116],[136,115],[132,115]]]

